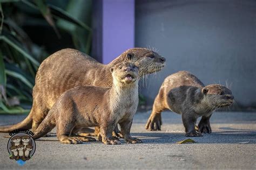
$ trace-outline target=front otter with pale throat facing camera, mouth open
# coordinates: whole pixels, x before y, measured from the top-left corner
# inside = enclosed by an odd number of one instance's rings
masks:
[[[76,87],[60,96],[33,138],[38,139],[57,126],[59,141],[80,144],[85,138],[71,135],[72,130],[99,126],[98,137],[104,144],[120,144],[112,137],[112,131],[119,123],[127,143],[141,143],[140,139],[130,135],[133,115],[138,106],[138,67],[132,63],[119,63],[110,72],[113,77],[111,88]]]

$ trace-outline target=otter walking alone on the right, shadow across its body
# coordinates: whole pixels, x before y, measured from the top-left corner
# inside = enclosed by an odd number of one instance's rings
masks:
[[[145,126],[148,130],[161,130],[161,111],[170,109],[181,114],[186,136],[203,136],[201,132],[211,133],[212,112],[233,103],[231,90],[219,84],[204,84],[193,74],[180,71],[164,80],[153,104],[152,113]],[[202,116],[195,129],[197,118]]]

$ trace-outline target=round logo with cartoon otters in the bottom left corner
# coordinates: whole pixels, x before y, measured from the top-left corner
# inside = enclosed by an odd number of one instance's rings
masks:
[[[18,132],[11,136],[7,148],[10,159],[23,165],[35,153],[36,143],[29,133]]]

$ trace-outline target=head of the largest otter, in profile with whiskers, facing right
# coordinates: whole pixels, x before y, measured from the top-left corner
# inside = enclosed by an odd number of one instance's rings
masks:
[[[159,72],[165,66],[165,58],[147,48],[131,48],[122,56],[139,68],[139,76]]]

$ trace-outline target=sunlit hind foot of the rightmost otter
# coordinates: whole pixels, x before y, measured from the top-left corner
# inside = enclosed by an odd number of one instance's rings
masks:
[[[151,114],[145,128],[150,131],[161,130],[161,114]]]

